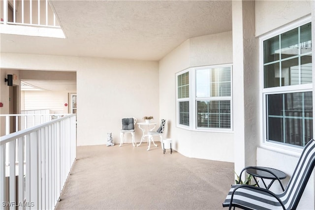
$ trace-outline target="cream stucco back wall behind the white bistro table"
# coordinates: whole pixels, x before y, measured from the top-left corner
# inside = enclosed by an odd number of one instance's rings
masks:
[[[150,115],[154,121],[160,120],[155,61],[1,53],[0,67],[77,72],[78,146],[106,144],[107,132],[112,132],[115,144],[120,143],[124,117],[136,117],[140,122]],[[138,142],[141,134],[136,127]],[[126,135],[125,142],[131,142],[131,137]]]

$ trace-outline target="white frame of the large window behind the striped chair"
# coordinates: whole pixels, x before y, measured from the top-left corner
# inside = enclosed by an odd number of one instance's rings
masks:
[[[278,94],[278,93],[291,93],[291,92],[307,92],[312,91],[313,97],[314,97],[314,91],[313,91],[313,83],[310,84],[301,84],[301,85],[291,85],[291,86],[282,86],[282,87],[273,87],[273,88],[264,88],[264,45],[263,42],[265,40],[268,40],[272,37],[279,36],[282,33],[285,33],[289,30],[296,29],[298,27],[301,27],[305,24],[311,23],[312,19],[311,17],[305,17],[299,21],[296,21],[294,23],[288,24],[285,27],[282,27],[278,30],[274,30],[270,33],[266,33],[265,35],[259,37],[259,71],[260,71],[260,108],[261,110],[261,122],[262,122],[262,146],[271,147],[271,148],[278,148],[278,149],[285,149],[285,150],[291,150],[291,151],[301,151],[302,148],[300,146],[294,146],[290,144],[284,144],[284,143],[277,143],[277,142],[271,142],[267,141],[267,107],[266,107],[266,95],[268,94]],[[314,24],[314,23],[312,23]],[[312,40],[313,41],[313,40]],[[314,43],[313,43],[314,46]],[[314,48],[314,47],[313,47]],[[312,49],[314,51],[314,49]],[[312,56],[314,56],[312,54]],[[315,63],[313,63],[313,69],[314,69]],[[314,78],[312,78],[312,81],[314,82]],[[314,100],[314,99],[313,99]],[[314,105],[313,105],[314,107]],[[314,110],[313,110],[314,113]],[[315,123],[313,121],[313,123]],[[314,126],[313,126],[314,127]]]

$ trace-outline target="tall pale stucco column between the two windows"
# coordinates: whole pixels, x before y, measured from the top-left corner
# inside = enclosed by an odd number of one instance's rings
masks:
[[[235,172],[256,165],[259,144],[258,40],[255,2],[232,1]]]

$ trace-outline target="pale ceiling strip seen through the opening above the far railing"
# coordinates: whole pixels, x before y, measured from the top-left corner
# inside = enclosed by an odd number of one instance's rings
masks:
[[[21,81],[21,90],[76,91],[76,81]]]

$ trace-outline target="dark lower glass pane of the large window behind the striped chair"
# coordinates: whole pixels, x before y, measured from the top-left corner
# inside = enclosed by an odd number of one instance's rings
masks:
[[[304,146],[313,136],[312,91],[267,95],[267,139]]]

